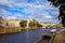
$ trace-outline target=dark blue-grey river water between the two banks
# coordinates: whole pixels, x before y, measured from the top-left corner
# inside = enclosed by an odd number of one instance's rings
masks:
[[[23,30],[18,33],[0,34],[0,43],[36,43],[51,29]],[[60,31],[60,29],[57,29]]]

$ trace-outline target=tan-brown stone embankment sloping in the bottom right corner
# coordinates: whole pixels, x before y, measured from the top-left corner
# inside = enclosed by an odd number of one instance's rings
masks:
[[[65,43],[65,30],[55,34],[53,43]]]

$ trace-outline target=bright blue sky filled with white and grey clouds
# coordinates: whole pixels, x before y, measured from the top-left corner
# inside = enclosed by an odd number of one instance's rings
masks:
[[[47,0],[0,0],[0,16],[58,24],[58,8]]]

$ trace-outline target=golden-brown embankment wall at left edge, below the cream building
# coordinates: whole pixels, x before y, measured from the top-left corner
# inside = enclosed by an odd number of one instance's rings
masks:
[[[11,33],[11,32],[20,32],[20,27],[0,27],[0,34],[1,33]]]

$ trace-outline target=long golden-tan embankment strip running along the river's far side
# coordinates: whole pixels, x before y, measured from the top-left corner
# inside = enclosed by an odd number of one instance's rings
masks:
[[[2,34],[2,33],[21,32],[23,30],[38,30],[38,29],[55,29],[55,28],[42,28],[42,27],[29,27],[29,28],[22,28],[22,27],[0,27],[0,34]]]

